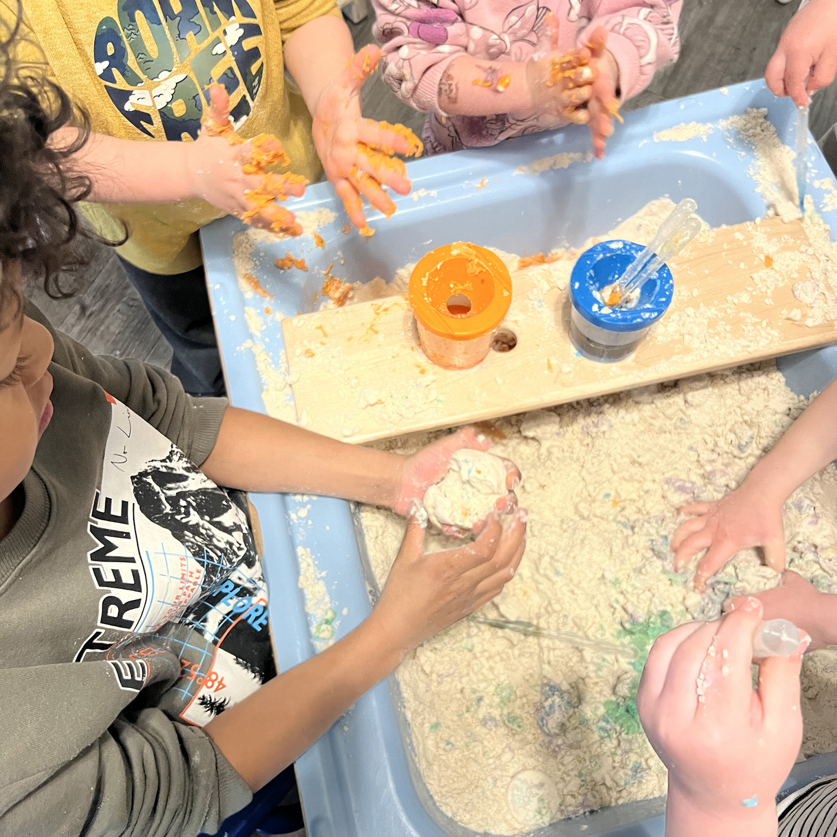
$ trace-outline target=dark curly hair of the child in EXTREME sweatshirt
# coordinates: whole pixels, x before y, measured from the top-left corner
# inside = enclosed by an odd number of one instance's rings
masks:
[[[98,238],[73,205],[90,194],[90,179],[68,163],[90,136],[90,118],[49,80],[45,59],[19,58],[22,21],[20,0],[14,24],[0,20],[0,262],[19,261],[24,275],[60,299],[73,294],[74,269],[84,262],[75,239]],[[50,144],[66,126],[76,129],[72,141]],[[19,311],[21,292],[6,272],[0,312],[10,297]]]

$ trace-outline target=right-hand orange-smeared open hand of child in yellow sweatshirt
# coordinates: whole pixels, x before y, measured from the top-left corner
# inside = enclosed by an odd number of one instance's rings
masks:
[[[392,215],[395,203],[382,185],[400,195],[410,191],[407,168],[393,153],[418,156],[424,148],[404,126],[361,116],[361,88],[380,58],[381,50],[371,44],[355,55],[323,90],[312,128],[326,177],[334,183],[352,223],[366,235],[372,235],[372,230],[367,227],[361,195],[387,217]]]

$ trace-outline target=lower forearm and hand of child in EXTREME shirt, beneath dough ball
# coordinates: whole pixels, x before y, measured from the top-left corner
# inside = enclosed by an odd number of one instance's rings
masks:
[[[424,530],[411,520],[366,622],[204,727],[250,788],[260,788],[311,747],[424,639],[500,593],[523,555],[524,518],[517,513],[505,534],[494,518],[475,543],[429,555],[423,554]]]

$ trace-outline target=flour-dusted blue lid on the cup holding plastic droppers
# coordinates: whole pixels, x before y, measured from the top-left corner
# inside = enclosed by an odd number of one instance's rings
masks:
[[[596,299],[594,290],[611,285],[644,250],[633,241],[602,241],[578,257],[570,276],[570,299],[585,320],[608,331],[639,331],[665,314],[675,283],[667,264],[650,278],[633,308],[608,308]]]

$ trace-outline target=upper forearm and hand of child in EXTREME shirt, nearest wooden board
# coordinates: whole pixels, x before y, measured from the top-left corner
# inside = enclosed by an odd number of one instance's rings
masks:
[[[442,479],[461,448],[487,450],[473,428],[439,439],[413,456],[346,444],[292,424],[234,407],[224,413],[218,440],[201,470],[218,485],[247,491],[290,491],[388,506],[406,515],[413,501]],[[520,472],[506,465],[510,492]],[[502,511],[514,507],[510,493]]]

